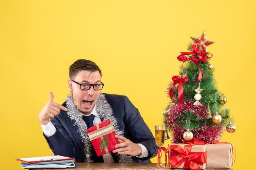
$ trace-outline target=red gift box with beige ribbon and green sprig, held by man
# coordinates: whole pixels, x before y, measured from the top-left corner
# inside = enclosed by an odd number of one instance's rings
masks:
[[[116,133],[110,120],[105,120],[90,127],[87,132],[98,156],[110,153],[116,149],[115,145],[119,144],[118,139],[115,138]]]

